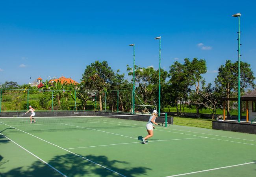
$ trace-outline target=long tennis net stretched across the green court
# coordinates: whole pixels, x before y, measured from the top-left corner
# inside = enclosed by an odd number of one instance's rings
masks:
[[[123,129],[138,125],[126,124],[127,120],[148,121],[149,114],[111,115],[111,116],[63,116],[34,117],[30,124],[29,117],[0,117],[0,132],[22,133],[44,131],[72,131],[93,129]],[[145,125],[141,125],[145,126]]]

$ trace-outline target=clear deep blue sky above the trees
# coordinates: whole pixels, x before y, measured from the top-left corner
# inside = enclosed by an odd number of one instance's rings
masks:
[[[71,77],[80,82],[87,65],[108,61],[169,70],[184,58],[205,59],[206,82],[213,83],[226,59],[237,61],[241,13],[241,60],[256,72],[255,1],[1,1],[0,83],[32,82],[37,77]],[[31,76],[31,79],[30,79]],[[49,78],[49,77],[48,77]]]

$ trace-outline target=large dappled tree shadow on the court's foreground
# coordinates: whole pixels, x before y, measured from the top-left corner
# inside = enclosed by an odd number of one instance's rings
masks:
[[[73,154],[58,155],[47,161],[48,164],[61,171],[61,173],[72,176],[120,176],[116,171],[127,177],[135,177],[139,174],[147,175],[147,171],[151,170],[143,166],[130,167],[128,162],[119,160],[109,160],[106,156],[87,155],[85,158],[92,162],[82,159]],[[43,158],[42,158],[43,159]],[[103,168],[100,164],[106,168]],[[4,167],[4,166],[2,166]],[[1,174],[3,177],[59,177],[63,176],[57,171],[50,168],[47,164],[37,160],[30,166],[19,167]]]

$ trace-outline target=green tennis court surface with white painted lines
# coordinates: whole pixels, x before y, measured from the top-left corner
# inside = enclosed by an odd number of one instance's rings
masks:
[[[256,135],[108,117],[0,118],[5,177],[256,176]],[[156,121],[157,122],[157,121]]]

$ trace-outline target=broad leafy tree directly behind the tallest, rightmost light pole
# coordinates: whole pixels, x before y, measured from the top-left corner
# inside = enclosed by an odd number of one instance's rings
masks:
[[[245,62],[240,62],[240,82],[241,91],[244,92],[247,87],[255,87],[254,73],[250,69],[250,65]],[[225,65],[221,65],[218,69],[218,76],[215,78],[215,85],[221,88],[221,92],[230,98],[232,91],[237,91],[237,77],[238,77],[238,61],[232,63],[231,60],[226,60]],[[230,103],[227,104],[227,113],[230,114]]]

